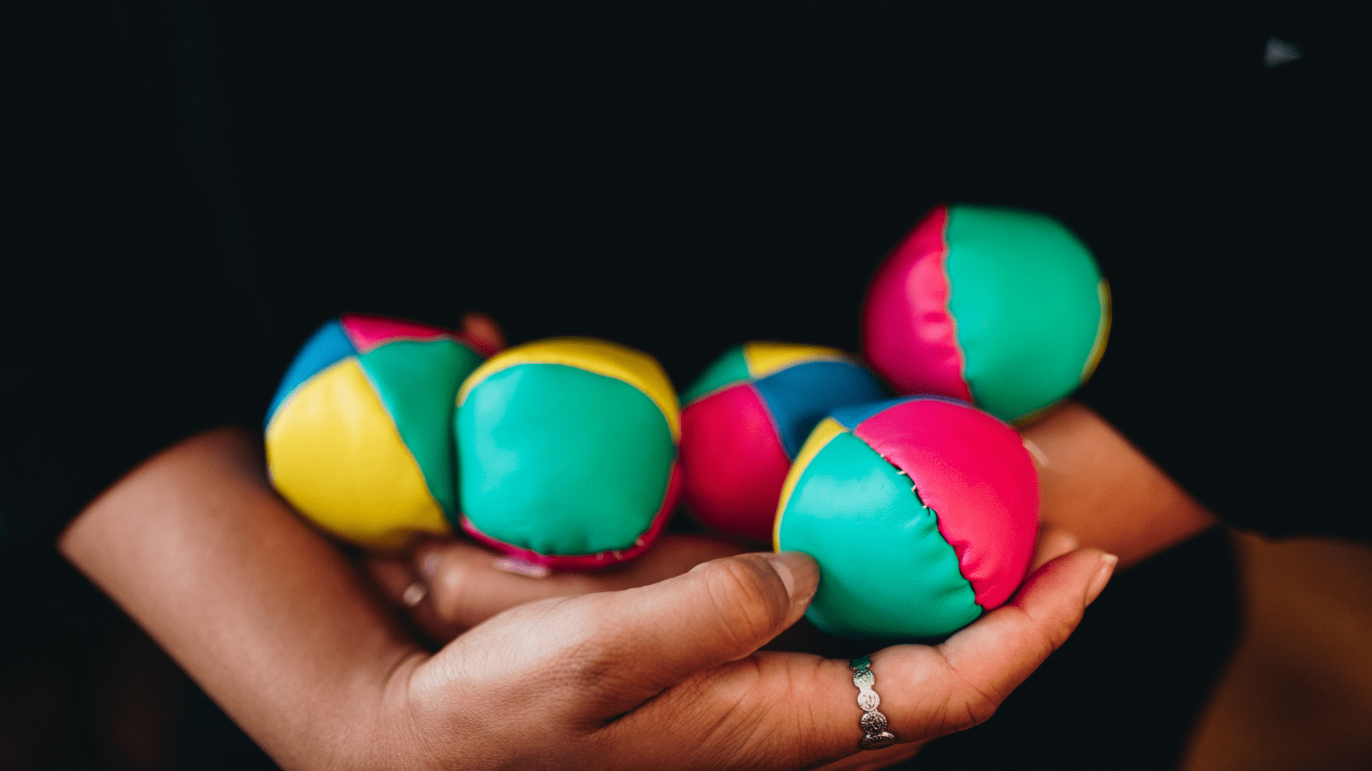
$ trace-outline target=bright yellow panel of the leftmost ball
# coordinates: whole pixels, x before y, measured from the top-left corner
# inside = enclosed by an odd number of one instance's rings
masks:
[[[266,458],[281,497],[335,535],[395,549],[416,531],[450,532],[357,357],[324,369],[277,409]]]

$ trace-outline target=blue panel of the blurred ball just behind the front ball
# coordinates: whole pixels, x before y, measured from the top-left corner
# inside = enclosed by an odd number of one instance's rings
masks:
[[[844,405],[886,395],[877,376],[838,361],[809,361],[788,366],[753,383],[777,420],[781,444],[792,460],[826,414]]]

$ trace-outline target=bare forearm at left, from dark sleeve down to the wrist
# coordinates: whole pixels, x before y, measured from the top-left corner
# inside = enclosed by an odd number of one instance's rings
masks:
[[[188,439],[91,503],[59,547],[288,768],[365,761],[421,656],[266,483],[240,429]]]

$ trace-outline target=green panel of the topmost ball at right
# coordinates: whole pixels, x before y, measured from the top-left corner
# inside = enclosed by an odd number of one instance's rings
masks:
[[[1062,399],[1100,324],[1100,270],[1061,222],[1010,209],[948,214],[948,309],[977,406],[1013,421]]]

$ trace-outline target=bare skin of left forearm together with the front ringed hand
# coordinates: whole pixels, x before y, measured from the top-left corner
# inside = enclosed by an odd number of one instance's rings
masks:
[[[259,442],[237,428],[130,472],[59,547],[285,768],[888,761],[989,717],[1115,564],[1072,551],[945,643],[874,653],[881,709],[907,742],[874,759],[858,756],[845,661],[757,650],[814,594],[804,554],[740,554],[648,586],[524,602],[429,653],[273,494]]]

